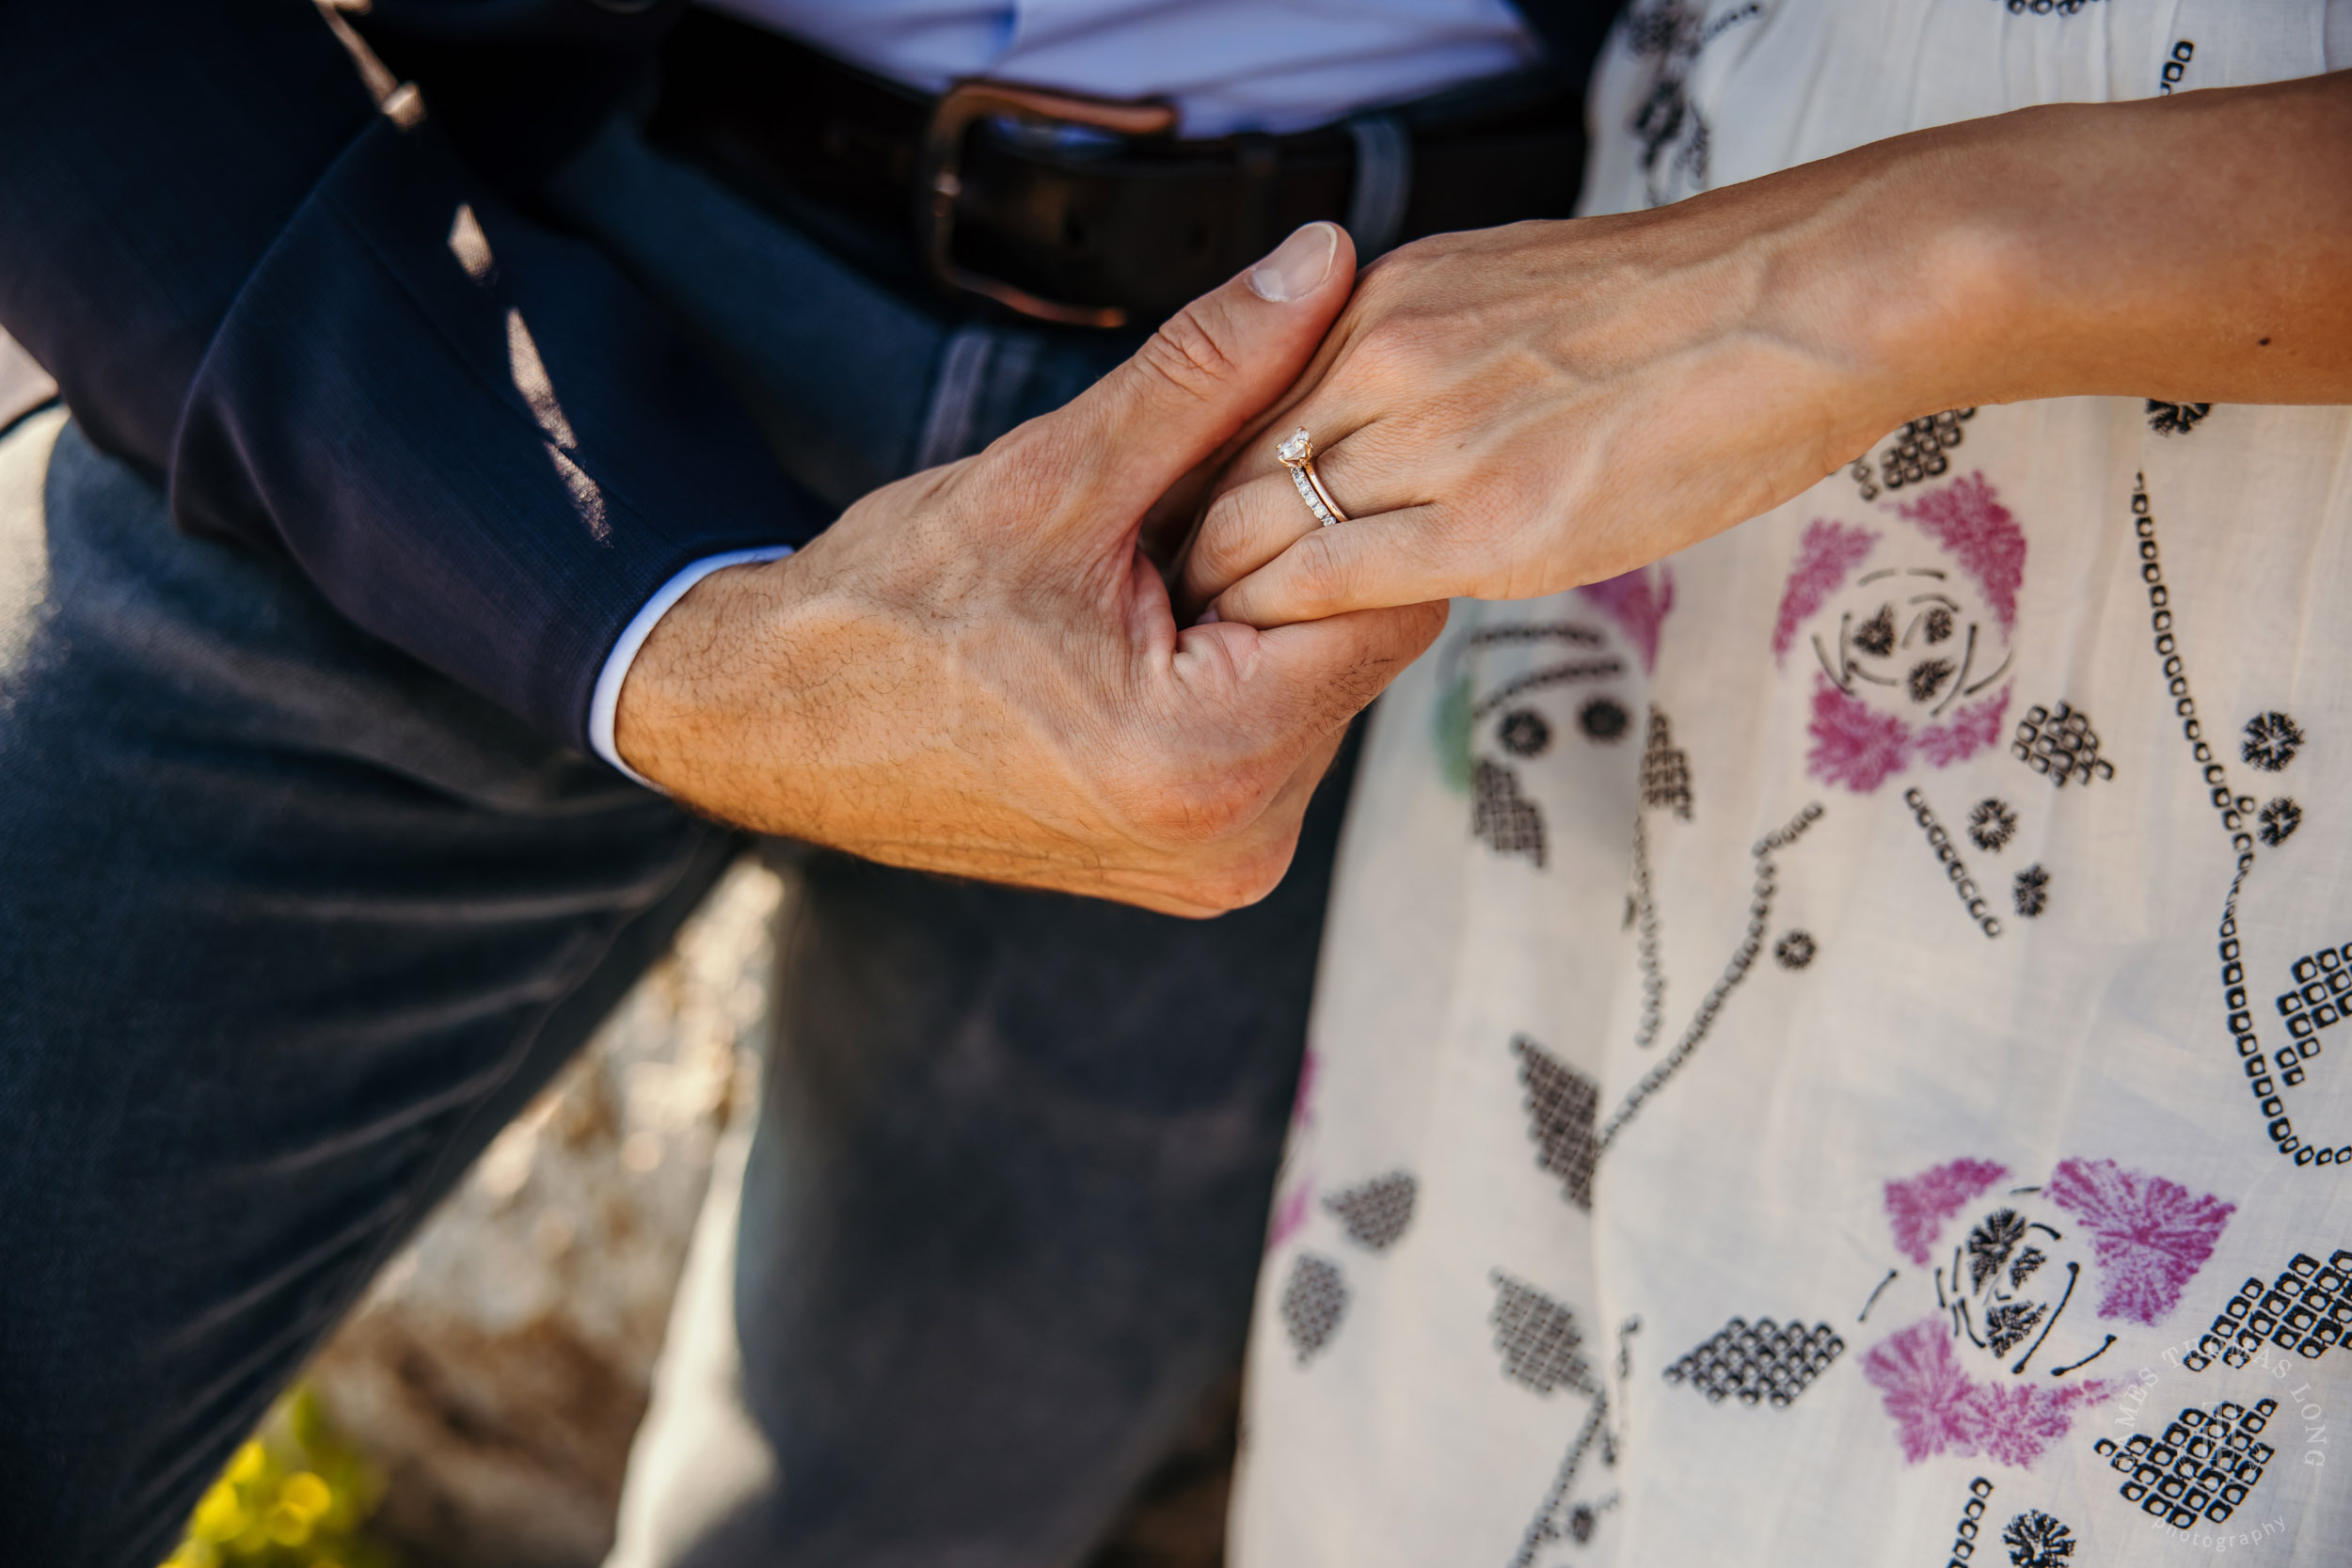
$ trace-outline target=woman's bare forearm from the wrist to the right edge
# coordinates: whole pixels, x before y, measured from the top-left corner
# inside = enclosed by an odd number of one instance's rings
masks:
[[[1910,414],[2352,402],[2352,73],[2030,108],[1860,158],[1849,233],[1825,237],[1844,268],[1893,266],[1858,294]],[[1851,237],[1870,226],[1910,254]]]

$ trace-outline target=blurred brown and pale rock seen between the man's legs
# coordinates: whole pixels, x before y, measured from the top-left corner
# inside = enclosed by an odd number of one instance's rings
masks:
[[[757,1100],[781,898],[739,865],[310,1368],[419,1566],[604,1559],[710,1157]]]

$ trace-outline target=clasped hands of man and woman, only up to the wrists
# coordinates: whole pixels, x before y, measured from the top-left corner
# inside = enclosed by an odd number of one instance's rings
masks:
[[[1056,414],[706,578],[630,670],[621,755],[710,816],[894,865],[1176,914],[1265,896],[1446,597],[1644,564],[1835,449],[1759,470],[1780,433],[1684,407],[1818,369],[1731,327],[1717,273],[1752,259],[1644,235],[1446,235],[1357,280],[1343,230],[1298,230]],[[1301,505],[1291,423],[1355,522]],[[1148,545],[1195,517],[1164,576]]]

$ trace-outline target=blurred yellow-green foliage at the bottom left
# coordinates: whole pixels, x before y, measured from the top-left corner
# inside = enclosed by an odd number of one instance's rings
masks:
[[[212,1483],[162,1568],[395,1568],[362,1526],[383,1486],[296,1387]]]

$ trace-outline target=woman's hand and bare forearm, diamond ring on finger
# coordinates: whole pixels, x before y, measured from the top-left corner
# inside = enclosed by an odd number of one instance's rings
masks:
[[[2352,75],[2032,108],[1371,266],[1223,477],[1183,609],[1277,625],[1630,571],[1905,418],[2352,400]],[[1275,458],[1305,425],[1350,515]]]

